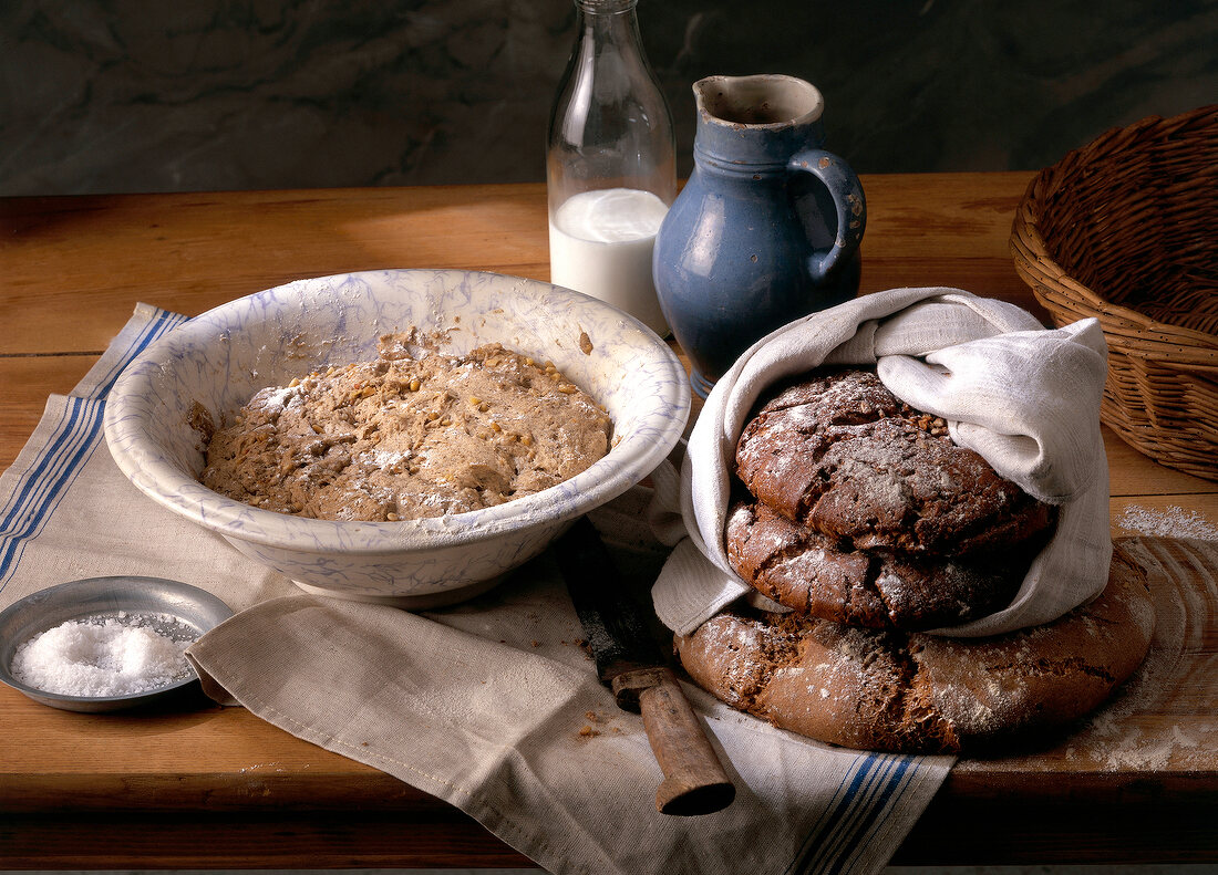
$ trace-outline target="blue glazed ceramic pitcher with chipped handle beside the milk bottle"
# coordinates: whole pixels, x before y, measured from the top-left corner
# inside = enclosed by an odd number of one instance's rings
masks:
[[[754,341],[857,293],[867,207],[854,170],[821,148],[825,102],[811,84],[715,75],[693,91],[694,169],[652,265],[705,397]]]

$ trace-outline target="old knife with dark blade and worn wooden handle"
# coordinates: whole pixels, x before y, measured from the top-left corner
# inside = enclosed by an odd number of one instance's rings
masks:
[[[664,773],[657,809],[695,815],[726,808],[736,786],[587,517],[555,542],[554,553],[600,682],[613,690],[620,708],[643,717]]]

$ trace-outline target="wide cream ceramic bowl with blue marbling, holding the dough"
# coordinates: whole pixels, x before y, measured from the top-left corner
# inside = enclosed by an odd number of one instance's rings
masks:
[[[376,358],[381,335],[447,331],[443,352],[503,346],[558,369],[605,406],[615,443],[582,473],[505,504],[426,520],[350,522],[259,510],[206,488],[200,409],[231,421],[259,388]],[[106,403],[106,441],[145,495],[306,590],[431,607],[476,595],[580,515],[646,477],[689,413],[669,346],[613,307],[558,286],[463,270],[300,280],[208,310],[151,344]]]

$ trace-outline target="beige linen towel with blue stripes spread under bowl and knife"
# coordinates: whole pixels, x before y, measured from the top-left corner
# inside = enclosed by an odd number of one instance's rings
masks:
[[[304,595],[162,509],[112,461],[101,414],[123,365],[181,320],[140,305],[0,476],[0,606],[106,574],[209,590],[239,612],[190,651],[213,696],[448,801],[559,874],[875,873],[939,787],[949,757],[817,745],[687,686],[737,798],[703,818],[661,815],[642,720],[597,682],[548,555],[417,615]],[[647,527],[650,498],[633,490],[593,517],[624,577],[647,582],[667,554]]]

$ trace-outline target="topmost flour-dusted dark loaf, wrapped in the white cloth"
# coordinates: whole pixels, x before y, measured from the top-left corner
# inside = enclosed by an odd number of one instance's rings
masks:
[[[1017,544],[1054,518],[867,370],[821,369],[778,387],[745,425],[736,472],[758,500],[856,549],[963,555]]]

